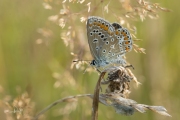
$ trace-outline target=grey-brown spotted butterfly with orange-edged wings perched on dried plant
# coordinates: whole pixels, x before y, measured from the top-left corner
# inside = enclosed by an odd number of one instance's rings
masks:
[[[96,68],[112,64],[126,65],[123,56],[132,50],[133,41],[129,31],[118,23],[91,16],[87,20],[87,37]]]

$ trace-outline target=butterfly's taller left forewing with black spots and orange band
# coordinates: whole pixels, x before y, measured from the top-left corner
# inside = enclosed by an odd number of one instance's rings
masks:
[[[88,43],[93,58],[97,61],[106,61],[107,39],[114,33],[114,27],[99,17],[89,17],[87,20]]]

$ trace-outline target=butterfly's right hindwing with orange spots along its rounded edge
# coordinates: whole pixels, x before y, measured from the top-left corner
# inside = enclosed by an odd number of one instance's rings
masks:
[[[125,64],[123,56],[132,49],[132,39],[129,31],[118,23],[113,23],[114,34],[107,39],[109,44],[104,46],[108,53],[106,60],[110,63]]]

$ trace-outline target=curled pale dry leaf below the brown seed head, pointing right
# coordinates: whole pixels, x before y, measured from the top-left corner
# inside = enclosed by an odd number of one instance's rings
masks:
[[[134,100],[123,98],[121,94],[100,94],[99,101],[106,106],[114,107],[118,114],[123,114],[127,116],[133,115],[135,111],[145,113],[149,109],[161,115],[171,117],[171,115],[167,113],[167,110],[163,106],[150,106],[145,104],[138,104]]]

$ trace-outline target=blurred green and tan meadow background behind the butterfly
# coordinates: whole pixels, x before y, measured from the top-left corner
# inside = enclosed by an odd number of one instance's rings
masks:
[[[131,83],[130,99],[164,106],[172,118],[151,111],[123,116],[111,107],[100,105],[99,120],[180,119],[180,7],[175,0],[153,1],[172,12],[160,12],[157,20],[147,18],[144,22],[133,23],[137,27],[137,37],[143,40],[136,44],[145,48],[146,54],[134,51],[127,54],[127,60],[135,67],[132,72],[142,83],[138,88]],[[33,112],[36,114],[57,99],[93,93],[97,73],[83,74],[82,69],[70,69],[74,58],[70,52],[79,54],[80,50],[76,50],[80,43],[74,42],[74,51],[72,45],[66,47],[60,36],[63,29],[47,20],[58,10],[44,9],[43,2],[0,0],[0,119],[6,116],[2,104],[7,96],[12,103],[27,91],[35,103]],[[112,22],[110,18],[106,19]],[[85,23],[78,25],[85,30]],[[41,31],[47,34],[43,36]],[[85,31],[82,34],[85,36]],[[81,41],[88,44],[87,39]],[[89,56],[90,52],[83,54]],[[43,119],[91,119],[91,104],[89,98],[80,98],[77,103],[62,103],[46,112]]]

